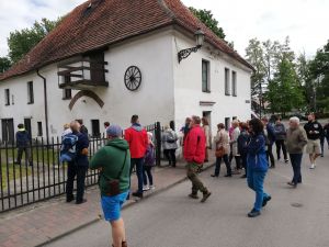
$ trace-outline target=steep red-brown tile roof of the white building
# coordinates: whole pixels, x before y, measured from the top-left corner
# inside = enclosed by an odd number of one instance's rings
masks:
[[[90,3],[91,8],[88,8]],[[252,69],[180,0],[89,0],[67,14],[58,27],[0,75],[0,80],[172,24],[192,33],[201,27],[207,42]]]

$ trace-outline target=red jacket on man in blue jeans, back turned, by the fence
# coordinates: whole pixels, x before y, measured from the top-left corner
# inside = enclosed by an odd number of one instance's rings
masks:
[[[125,139],[128,142],[132,158],[144,158],[148,146],[147,132],[140,124],[133,124],[125,131]]]

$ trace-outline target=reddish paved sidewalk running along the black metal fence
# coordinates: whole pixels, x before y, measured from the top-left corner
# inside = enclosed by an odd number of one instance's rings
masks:
[[[204,168],[211,167],[212,164],[214,164],[214,157],[205,164]],[[184,164],[179,164],[177,168],[156,168],[154,170],[156,190],[146,192],[145,198],[182,182],[184,179]],[[133,176],[133,190],[136,183],[136,176]],[[102,211],[98,188],[88,188],[86,198],[88,202],[81,205],[66,203],[65,197],[60,197],[1,214],[0,246],[43,246],[45,243],[99,221],[102,217]],[[138,201],[129,200],[125,206],[136,202]]]

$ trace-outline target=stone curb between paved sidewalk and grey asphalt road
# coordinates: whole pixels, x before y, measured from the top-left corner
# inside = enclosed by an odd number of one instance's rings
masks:
[[[212,167],[214,167],[214,166],[215,166],[215,164],[211,164],[211,165],[204,167],[203,170],[202,170],[202,172],[208,170],[209,168],[212,168]],[[161,193],[161,192],[164,192],[164,191],[167,191],[167,190],[170,190],[171,188],[173,188],[173,187],[175,187],[175,186],[178,186],[178,184],[184,182],[186,179],[188,179],[188,177],[183,177],[182,179],[180,179],[180,180],[178,180],[178,181],[175,181],[175,182],[173,182],[173,183],[171,183],[171,184],[169,184],[169,186],[167,186],[167,187],[163,187],[163,188],[161,188],[161,189],[159,189],[159,190],[157,190],[157,191],[155,191],[155,192],[152,192],[152,193],[146,194],[146,195],[144,197],[143,200],[138,200],[138,201],[134,201],[134,202],[127,203],[127,204],[125,204],[125,205],[123,206],[123,210],[128,209],[128,207],[131,207],[131,206],[133,206],[133,205],[136,205],[136,204],[138,204],[138,202],[143,202],[143,201],[145,201],[145,199],[148,199],[148,198],[150,198],[150,197],[154,197],[154,195],[157,195],[157,194],[159,194],[159,193]],[[92,225],[92,224],[94,224],[94,223],[97,223],[97,222],[99,222],[99,221],[102,221],[102,217],[101,217],[101,216],[95,217],[95,218],[93,218],[93,220],[91,220],[91,221],[89,221],[89,222],[87,222],[87,223],[84,223],[84,224],[81,224],[81,225],[79,225],[79,226],[77,226],[77,227],[75,227],[75,228],[72,228],[72,229],[70,229],[70,231],[68,231],[68,232],[66,232],[66,233],[64,233],[64,234],[59,234],[59,235],[56,236],[56,237],[52,237],[52,238],[48,237],[48,240],[43,242],[42,244],[38,244],[38,245],[36,245],[35,247],[42,247],[42,246],[44,246],[44,245],[52,244],[53,242],[56,242],[56,240],[59,239],[59,238],[63,238],[63,237],[65,237],[65,236],[68,236],[68,235],[70,235],[70,234],[72,234],[72,233],[75,233],[75,232],[78,232],[78,231],[80,231],[80,229],[82,229],[82,228],[84,228],[84,227],[87,227],[87,226],[90,226],[90,225]]]

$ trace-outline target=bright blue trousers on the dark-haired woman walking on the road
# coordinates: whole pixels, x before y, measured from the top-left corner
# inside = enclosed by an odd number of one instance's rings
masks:
[[[262,209],[263,200],[270,195],[264,192],[264,179],[266,171],[256,171],[249,168],[247,170],[248,187],[256,192],[256,201],[253,210],[260,211]]]

